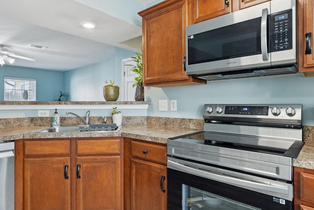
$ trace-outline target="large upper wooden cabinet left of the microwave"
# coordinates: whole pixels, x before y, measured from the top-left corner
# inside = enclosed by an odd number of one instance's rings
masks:
[[[166,0],[138,14],[143,18],[143,85],[170,87],[206,84],[186,74],[187,1]]]

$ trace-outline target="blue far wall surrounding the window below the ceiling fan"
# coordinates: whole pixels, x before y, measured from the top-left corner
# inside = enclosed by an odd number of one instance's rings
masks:
[[[63,91],[63,72],[17,66],[0,66],[0,100],[4,100],[4,77],[36,79],[36,101],[53,101]]]

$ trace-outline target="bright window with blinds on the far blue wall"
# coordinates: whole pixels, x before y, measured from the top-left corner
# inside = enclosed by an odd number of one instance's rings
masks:
[[[36,101],[36,80],[4,77],[4,101]]]

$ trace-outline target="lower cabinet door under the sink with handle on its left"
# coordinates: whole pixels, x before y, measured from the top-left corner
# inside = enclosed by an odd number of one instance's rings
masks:
[[[77,157],[77,209],[122,210],[121,156]]]

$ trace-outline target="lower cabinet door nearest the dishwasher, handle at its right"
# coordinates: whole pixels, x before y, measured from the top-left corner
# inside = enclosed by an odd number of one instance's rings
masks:
[[[70,157],[24,160],[24,210],[70,210]]]

